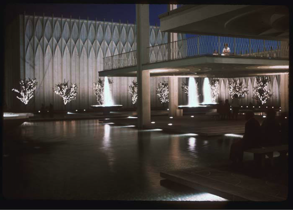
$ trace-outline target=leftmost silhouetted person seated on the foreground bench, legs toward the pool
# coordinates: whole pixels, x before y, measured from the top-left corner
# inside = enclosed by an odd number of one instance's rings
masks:
[[[243,159],[243,151],[253,147],[259,147],[261,141],[261,126],[254,118],[254,113],[248,111],[245,114],[245,133],[242,139],[233,142],[230,149],[230,160],[233,165],[240,166]]]

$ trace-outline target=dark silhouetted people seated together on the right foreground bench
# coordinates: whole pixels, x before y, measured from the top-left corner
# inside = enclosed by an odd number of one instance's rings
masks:
[[[250,148],[276,146],[288,144],[288,131],[282,130],[276,120],[276,111],[268,109],[266,119],[260,123],[254,118],[254,113],[248,111],[245,114],[245,133],[242,139],[233,142],[230,149],[230,159],[234,166],[240,166],[243,159],[243,151]]]

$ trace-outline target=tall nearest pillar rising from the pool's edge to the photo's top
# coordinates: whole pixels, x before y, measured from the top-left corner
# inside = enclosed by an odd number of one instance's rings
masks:
[[[137,124],[142,128],[151,123],[149,71],[142,71],[149,58],[149,4],[136,4],[136,23]]]

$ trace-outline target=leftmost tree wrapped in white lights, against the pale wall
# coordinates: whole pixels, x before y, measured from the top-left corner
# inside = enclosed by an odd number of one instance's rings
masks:
[[[19,93],[21,97],[17,96],[17,98],[21,100],[21,102],[23,102],[25,105],[27,105],[29,100],[34,96],[33,94],[37,87],[38,82],[36,81],[36,79],[28,78],[28,80],[25,80],[25,79],[20,80],[19,84],[20,84],[20,91],[14,88],[12,89],[12,91]]]

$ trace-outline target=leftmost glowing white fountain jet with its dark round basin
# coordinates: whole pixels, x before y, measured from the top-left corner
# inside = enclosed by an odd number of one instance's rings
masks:
[[[103,95],[104,95],[104,102],[102,105],[91,105],[91,108],[97,110],[97,111],[102,111],[104,115],[110,114],[110,111],[117,111],[119,110],[122,105],[115,105],[114,100],[112,97],[112,93],[110,90],[110,84],[108,77],[105,76],[104,79],[104,90],[103,90]]]

